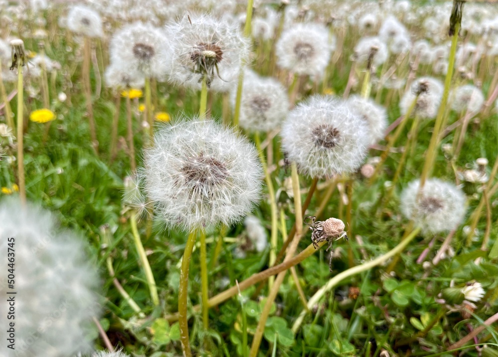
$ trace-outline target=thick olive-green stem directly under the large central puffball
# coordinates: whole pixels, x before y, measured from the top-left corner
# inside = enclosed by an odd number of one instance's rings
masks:
[[[188,337],[188,316],[187,316],[187,298],[188,298],[188,272],[190,267],[190,258],[194,250],[197,233],[191,232],[183,252],[182,266],[180,270],[180,287],[178,290],[178,323],[180,325],[180,339],[182,342],[183,356],[192,357]]]

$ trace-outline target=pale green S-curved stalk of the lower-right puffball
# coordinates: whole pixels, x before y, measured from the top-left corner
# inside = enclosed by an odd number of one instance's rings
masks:
[[[370,262],[363,263],[361,265],[357,265],[353,268],[350,268],[348,270],[345,270],[339,274],[337,274],[335,277],[330,279],[327,284],[325,284],[320,290],[318,290],[315,295],[311,297],[311,299],[308,301],[308,309],[312,309],[313,306],[315,306],[323,297],[324,295],[330,291],[332,288],[334,288],[337,284],[339,284],[342,280],[349,278],[352,275],[361,273],[363,271],[372,269],[373,267],[380,265],[384,263],[387,259],[401,253],[403,249],[410,243],[418,234],[420,231],[419,227],[416,227],[411,231],[411,233],[401,242],[399,242],[398,245],[396,245],[393,249],[388,251],[387,253],[373,259]],[[297,333],[299,330],[299,327],[301,326],[304,317],[306,316],[306,310],[301,311],[299,314],[299,317],[296,319],[294,322],[294,325],[292,326],[292,332]]]

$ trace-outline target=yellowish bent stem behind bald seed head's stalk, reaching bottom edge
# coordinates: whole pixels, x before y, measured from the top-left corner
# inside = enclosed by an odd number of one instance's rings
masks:
[[[296,164],[293,163],[291,165],[291,172],[292,172],[292,190],[294,191],[294,209],[295,209],[295,214],[296,214],[296,234],[294,236],[294,239],[292,240],[291,245],[289,246],[289,249],[287,251],[287,255],[285,256],[284,262],[288,261],[289,259],[292,258],[294,255],[294,252],[297,249],[297,246],[299,244],[299,241],[302,236],[302,230],[303,230],[303,216],[302,216],[302,210],[301,210],[301,193],[300,193],[300,186],[299,186],[299,175],[297,174],[297,167]],[[283,282],[283,279],[285,278],[285,273],[286,271],[283,271],[279,273],[275,279],[275,283],[273,284],[272,288],[270,289],[268,293],[268,297],[266,299],[266,303],[264,304],[263,310],[261,311],[261,316],[259,317],[259,321],[256,327],[256,332],[254,333],[254,337],[252,339],[252,345],[250,348],[249,356],[250,357],[256,357],[259,346],[261,344],[261,339],[263,337],[264,333],[264,328],[266,325],[266,320],[268,319],[268,315],[271,310],[271,305],[275,301],[275,298],[278,294],[278,289],[280,288],[280,285]]]

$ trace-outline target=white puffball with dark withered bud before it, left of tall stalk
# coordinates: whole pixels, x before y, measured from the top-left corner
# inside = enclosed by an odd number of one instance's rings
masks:
[[[440,80],[432,77],[422,77],[413,82],[411,88],[404,93],[399,101],[401,114],[407,114],[419,92],[420,95],[411,115],[418,116],[420,119],[435,118],[443,95],[443,84]]]

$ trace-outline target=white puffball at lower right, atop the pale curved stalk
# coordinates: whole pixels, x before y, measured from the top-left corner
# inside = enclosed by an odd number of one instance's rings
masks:
[[[462,223],[466,199],[459,188],[440,179],[428,179],[417,197],[419,187],[420,180],[411,181],[401,194],[401,211],[406,218],[428,233],[456,229]]]

